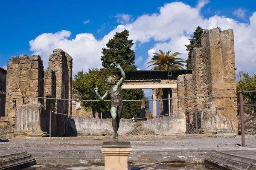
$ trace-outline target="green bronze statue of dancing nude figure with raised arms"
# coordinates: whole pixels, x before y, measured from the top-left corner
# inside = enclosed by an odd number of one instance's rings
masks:
[[[122,75],[121,79],[116,84],[117,80],[113,76],[108,76],[106,81],[107,81],[108,85],[110,86],[110,89],[103,96],[101,96],[98,92],[99,89],[96,86],[95,93],[100,101],[105,100],[108,96],[110,96],[110,98],[111,98],[110,113],[112,116],[112,126],[113,126],[113,130],[114,130],[113,139],[114,139],[114,141],[118,142],[117,130],[119,128],[119,122],[120,122],[120,119],[122,116],[122,110],[123,110],[122,99],[121,99],[121,95],[122,95],[121,86],[125,82],[125,72],[122,70],[122,68],[119,64],[116,64],[115,67],[119,68],[119,70],[121,71],[121,75]]]

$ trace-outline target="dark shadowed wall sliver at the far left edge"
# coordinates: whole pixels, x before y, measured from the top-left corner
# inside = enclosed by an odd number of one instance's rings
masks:
[[[6,92],[6,70],[0,67],[0,91]],[[6,95],[0,94],[0,116],[5,116]]]

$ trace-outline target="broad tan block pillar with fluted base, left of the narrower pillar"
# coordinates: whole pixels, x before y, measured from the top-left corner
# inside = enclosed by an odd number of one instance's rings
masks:
[[[26,56],[20,55],[12,57],[7,64],[6,75],[6,93],[27,95],[27,96],[39,96],[43,97],[44,94],[44,67],[41,57],[38,55]],[[41,115],[43,112],[42,99],[26,98],[23,96],[6,95],[6,116],[8,121],[13,126],[14,130],[19,131],[38,131],[41,130],[42,119],[45,119]],[[34,112],[23,111],[23,107],[36,106]],[[19,110],[22,112],[18,112]],[[17,111],[18,110],[18,111]],[[42,113],[43,114],[43,113]],[[41,117],[41,120],[34,120],[33,117]],[[15,128],[15,129],[14,129]],[[41,132],[40,132],[41,133]],[[42,132],[43,133],[43,132]]]

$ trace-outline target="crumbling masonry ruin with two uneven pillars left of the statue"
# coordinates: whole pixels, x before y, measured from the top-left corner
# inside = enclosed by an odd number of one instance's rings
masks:
[[[49,68],[44,70],[39,55],[12,57],[7,64],[6,111],[4,119],[12,125],[9,133],[42,136],[49,133],[49,111],[70,115],[71,101],[38,99],[24,96],[71,99],[72,57],[61,49],[49,56]],[[64,136],[64,116],[52,114],[52,131]],[[58,128],[57,128],[58,125]]]

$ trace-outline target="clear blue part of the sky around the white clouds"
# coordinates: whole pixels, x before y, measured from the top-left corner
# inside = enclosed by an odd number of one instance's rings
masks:
[[[70,36],[67,37],[68,40],[74,39],[77,34],[81,33],[93,34],[96,40],[101,40],[120,24],[130,24],[138,17],[145,14],[159,14],[161,7],[166,3],[172,2],[176,1],[1,1],[0,23],[2,26],[0,27],[0,66],[5,66],[11,56],[20,54],[30,55],[41,50],[36,49],[35,51],[30,51],[29,45],[30,40],[34,40],[41,34],[54,34],[58,31],[67,30],[71,33]],[[200,10],[201,17],[210,18],[215,15],[224,16],[245,24],[250,24],[249,17],[256,11],[256,3],[252,0],[183,0],[177,2],[183,2],[192,8],[196,7],[200,2],[205,2],[205,5]],[[234,13],[234,11],[239,9],[241,9],[240,16],[239,13]],[[120,21],[122,20],[122,15],[125,14],[128,14],[128,17],[130,17],[128,23]],[[177,17],[179,16],[177,15]],[[190,26],[187,25],[187,27]],[[195,28],[193,27],[192,30],[195,30]],[[189,33],[192,33],[192,31]],[[154,40],[154,37],[151,37],[150,41],[143,43],[140,43],[140,40],[138,40],[136,42],[137,48],[135,49],[137,59],[139,57],[142,57],[141,59],[143,60],[147,59],[148,50],[154,47],[158,42],[166,42],[166,40]],[[171,51],[177,51],[172,48],[172,46],[170,46],[169,49]],[[64,50],[69,52],[68,49]],[[155,51],[158,50],[159,49],[155,49]],[[86,54],[84,54],[84,57],[86,57]],[[47,65],[47,62],[48,61],[44,60],[44,65]],[[146,69],[146,67],[140,65],[141,63],[138,62],[137,64],[139,68]],[[86,69],[86,67],[84,69]]]

